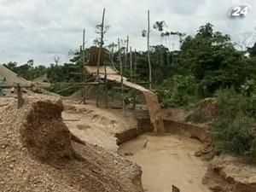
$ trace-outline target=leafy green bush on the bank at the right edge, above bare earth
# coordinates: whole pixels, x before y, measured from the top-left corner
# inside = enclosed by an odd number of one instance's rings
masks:
[[[220,115],[210,126],[221,151],[247,157],[256,163],[256,140],[253,134],[255,116],[251,96],[234,89],[218,90]]]

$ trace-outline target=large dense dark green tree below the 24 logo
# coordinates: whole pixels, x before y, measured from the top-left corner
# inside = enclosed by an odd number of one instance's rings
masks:
[[[212,24],[201,26],[195,37],[184,39],[176,70],[193,74],[201,93],[211,96],[220,87],[239,87],[247,76],[246,60],[230,36],[213,32]]]

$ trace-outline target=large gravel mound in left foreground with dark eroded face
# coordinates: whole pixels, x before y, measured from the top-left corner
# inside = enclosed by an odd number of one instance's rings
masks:
[[[8,103],[0,110],[1,191],[142,191],[138,166],[71,140],[60,100],[29,96],[19,110]]]

